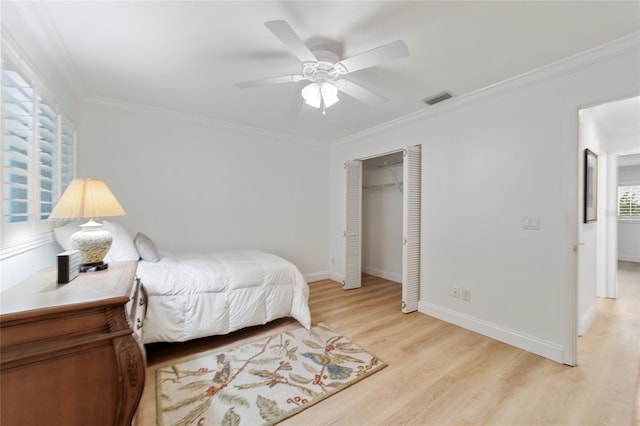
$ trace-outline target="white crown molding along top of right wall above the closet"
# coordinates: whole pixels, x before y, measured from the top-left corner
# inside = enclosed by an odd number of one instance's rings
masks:
[[[446,111],[460,108],[463,105],[489,96],[494,96],[518,87],[532,85],[542,80],[555,78],[560,75],[571,74],[577,70],[586,69],[599,63],[610,61],[618,56],[631,53],[640,55],[640,32],[631,33],[617,40],[585,50],[549,65],[533,69],[459,97],[453,97],[448,99],[446,102],[434,105],[429,109],[416,111],[403,117],[370,127],[361,132],[334,140],[329,144],[329,146],[331,148],[335,148],[341,145],[354,143],[367,136],[382,133],[437,114],[442,114]]]

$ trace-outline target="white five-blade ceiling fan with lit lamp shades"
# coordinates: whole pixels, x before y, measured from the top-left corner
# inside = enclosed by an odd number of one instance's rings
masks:
[[[405,43],[397,40],[350,58],[340,59],[327,46],[307,47],[286,21],[268,21],[264,25],[300,60],[302,70],[299,74],[245,81],[236,86],[247,88],[307,80],[310,83],[302,88],[302,97],[308,105],[321,108],[324,115],[327,108],[340,100],[338,92],[370,105],[385,102],[387,99],[384,96],[347,80],[345,76],[363,68],[409,56]]]

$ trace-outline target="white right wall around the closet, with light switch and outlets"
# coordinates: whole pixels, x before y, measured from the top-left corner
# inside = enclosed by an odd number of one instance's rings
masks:
[[[578,109],[640,93],[639,57],[628,38],[337,144],[332,276],[344,268],[342,163],[422,144],[419,310],[573,363]],[[522,229],[524,216],[541,230]]]

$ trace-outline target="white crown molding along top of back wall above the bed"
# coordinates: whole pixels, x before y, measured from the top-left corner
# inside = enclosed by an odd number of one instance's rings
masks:
[[[295,138],[283,133],[271,132],[268,130],[259,129],[257,127],[245,126],[242,124],[216,120],[210,117],[204,117],[204,116],[195,115],[195,114],[188,114],[188,113],[165,109],[165,108],[141,105],[133,102],[126,102],[119,99],[89,95],[84,99],[83,102],[87,104],[92,104],[92,105],[107,106],[111,108],[124,109],[131,112],[153,115],[153,116],[161,117],[165,119],[181,121],[184,123],[198,124],[201,126],[210,127],[214,129],[221,129],[221,130],[233,131],[237,133],[245,133],[245,134],[254,135],[254,136],[266,137],[270,139],[275,139],[278,142],[284,142],[284,143],[296,144],[296,145],[300,145],[300,144],[311,145],[315,147],[329,149],[329,146],[326,143],[317,142],[312,139]]]

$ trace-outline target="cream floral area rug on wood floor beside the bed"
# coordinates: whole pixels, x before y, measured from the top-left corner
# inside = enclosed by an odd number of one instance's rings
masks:
[[[386,364],[323,323],[156,370],[158,425],[273,425]]]

